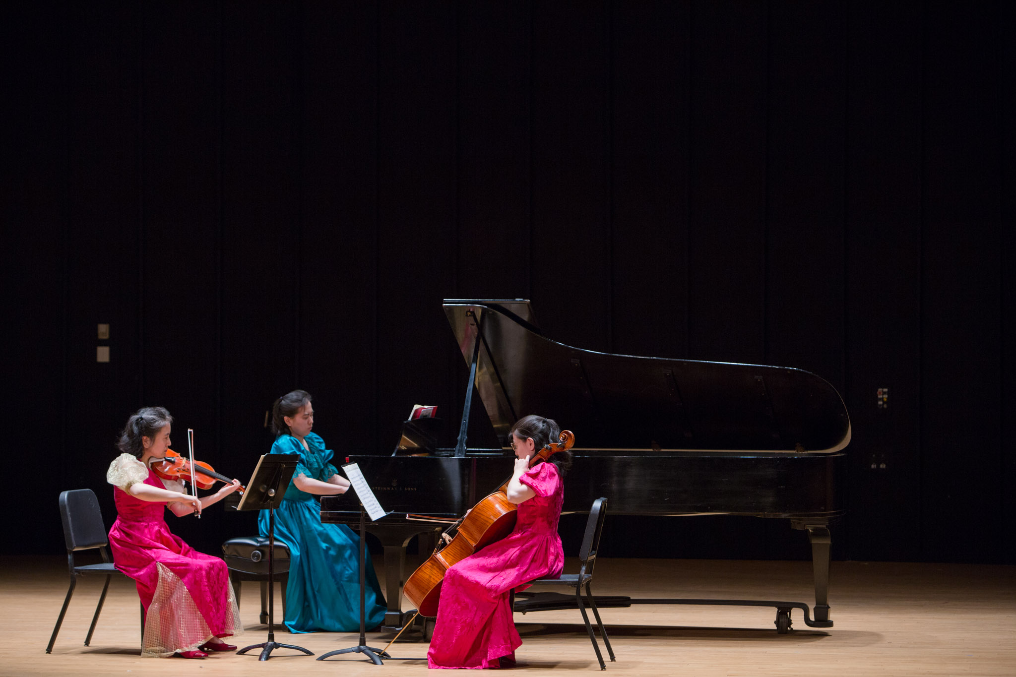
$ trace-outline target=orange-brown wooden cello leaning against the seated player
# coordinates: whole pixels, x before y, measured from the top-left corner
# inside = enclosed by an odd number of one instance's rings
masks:
[[[558,439],[560,442],[548,444],[536,452],[529,459],[529,467],[546,461],[558,452],[568,451],[575,444],[575,435],[571,430],[562,430]],[[453,525],[452,528],[457,527],[454,538],[446,541],[446,537],[442,535],[434,553],[405,581],[402,594],[416,605],[421,616],[434,618],[438,615],[441,583],[448,568],[481,548],[500,541],[515,528],[518,507],[508,500],[509,481],[511,478],[473,505],[465,517]]]

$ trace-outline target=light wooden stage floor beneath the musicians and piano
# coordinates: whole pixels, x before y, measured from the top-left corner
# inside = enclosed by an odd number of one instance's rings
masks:
[[[569,561],[566,570],[573,570]],[[102,578],[78,583],[52,655],[46,644],[67,590],[66,559],[0,558],[4,617],[0,675],[421,675],[426,645],[402,642],[382,667],[360,657],[315,661],[276,651],[224,654],[205,661],[141,659],[138,603],[133,584],[111,586],[91,647],[83,647]],[[605,559],[594,592],[651,598],[773,599],[814,603],[810,562]],[[276,600],[278,596],[276,595]],[[833,562],[830,605],[835,626],[815,630],[795,610],[793,628],[777,634],[768,608],[641,606],[606,609],[604,620],[618,660],[616,675],[1014,675],[1016,567],[960,564]],[[276,607],[277,608],[277,607]],[[264,641],[257,623],[256,584],[241,599],[246,634],[234,644]],[[516,614],[522,634],[518,666],[510,672],[553,670],[598,674],[578,612]],[[358,644],[357,633],[291,635],[277,641],[317,655]],[[383,647],[389,637],[368,634]]]

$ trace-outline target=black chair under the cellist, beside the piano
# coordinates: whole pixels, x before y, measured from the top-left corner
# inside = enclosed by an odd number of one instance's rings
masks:
[[[592,596],[592,591],[589,589],[589,585],[592,583],[592,569],[596,564],[596,550],[599,548],[599,533],[604,530],[604,518],[607,515],[607,498],[596,498],[592,501],[592,507],[589,509],[589,520],[585,523],[585,534],[582,537],[582,548],[579,550],[578,558],[581,566],[579,566],[578,573],[563,573],[560,579],[537,579],[535,581],[530,581],[529,586],[571,586],[575,589],[575,606],[578,610],[582,612],[582,620],[585,621],[585,629],[589,632],[589,640],[592,641],[592,648],[596,651],[596,659],[599,661],[599,669],[607,670],[607,664],[604,663],[604,655],[599,653],[599,645],[596,642],[596,635],[592,631],[592,625],[589,623],[589,614],[586,613],[585,607],[588,605],[592,608],[592,615],[596,618],[596,625],[599,627],[599,636],[604,638],[604,644],[607,646],[607,653],[611,657],[611,661],[615,661],[614,650],[611,649],[611,640],[607,636],[607,629],[604,627],[604,621],[599,619],[599,611],[596,609],[596,600]],[[582,588],[585,588],[585,595],[582,594]],[[516,605],[515,595],[520,597],[529,598],[526,600],[521,600]],[[536,593],[515,593],[512,591],[512,609],[515,611],[521,611],[526,613],[528,611],[549,611],[551,609],[563,609],[569,608],[571,605],[562,605],[560,602],[552,602],[550,604],[542,605],[538,603],[538,594]],[[557,596],[563,598],[563,596]]]

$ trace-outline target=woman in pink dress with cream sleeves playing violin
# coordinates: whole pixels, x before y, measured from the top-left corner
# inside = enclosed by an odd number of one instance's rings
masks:
[[[226,562],[194,550],[170,533],[165,512],[200,513],[240,488],[234,480],[213,494],[192,496],[181,482],[155,476],[149,464],[170,448],[173,417],[162,407],[133,414],[120,434],[121,454],[106,475],[117,520],[110,547],[117,568],[134,579],[144,606],[141,655],[207,658],[236,651],[221,637],[241,634],[240,610]]]

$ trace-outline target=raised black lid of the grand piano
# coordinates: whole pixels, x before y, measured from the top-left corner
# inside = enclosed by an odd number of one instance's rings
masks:
[[[618,355],[543,336],[529,301],[445,299],[475,387],[504,443],[527,414],[575,432],[578,450],[836,452],[850,442],[839,393],[803,369]]]

